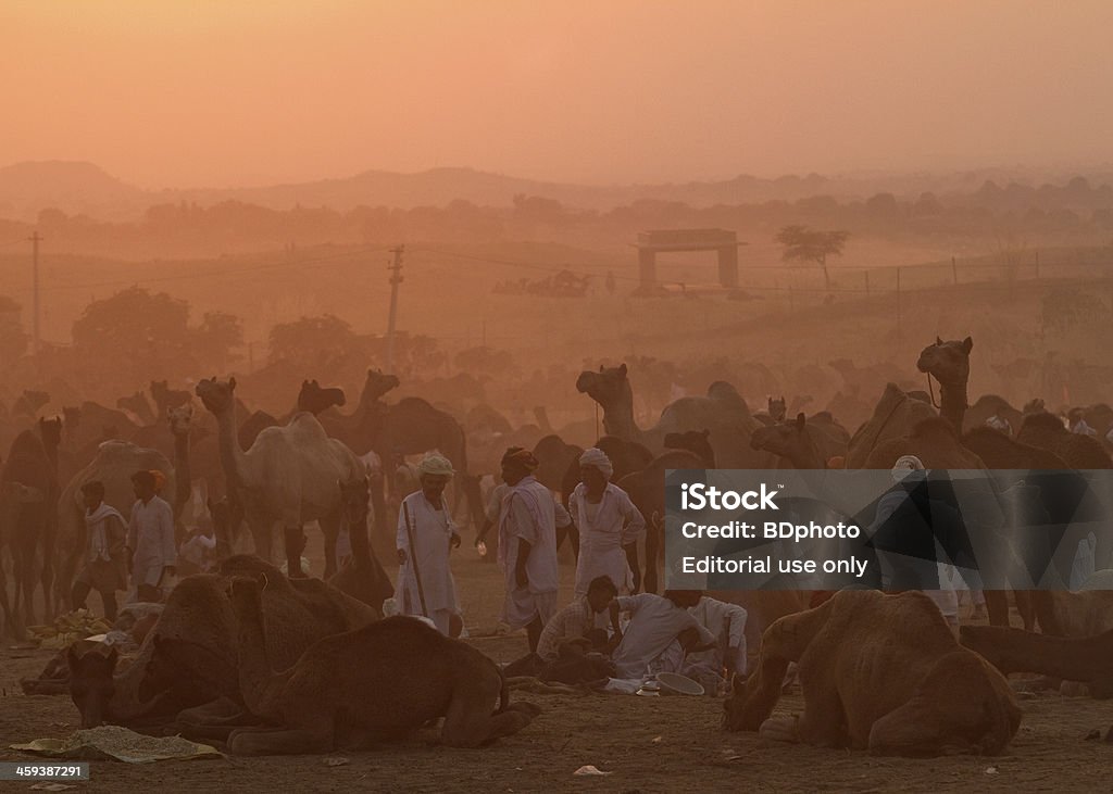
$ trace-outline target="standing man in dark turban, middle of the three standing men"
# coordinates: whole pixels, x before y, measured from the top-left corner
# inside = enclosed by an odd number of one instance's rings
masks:
[[[538,482],[538,459],[529,449],[511,447],[502,457],[502,479],[510,486],[499,519],[499,564],[506,577],[503,621],[511,631],[524,627],[530,652],[556,613],[556,503]]]

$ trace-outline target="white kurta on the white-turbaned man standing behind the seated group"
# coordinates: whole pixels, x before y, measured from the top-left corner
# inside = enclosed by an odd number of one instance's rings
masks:
[[[646,519],[622,488],[607,484],[595,505],[581,483],[569,497],[569,509],[580,528],[580,558],[575,564],[575,595],[588,594],[598,576],[609,576],[620,594],[633,589],[633,574],[623,546],[646,538]]]

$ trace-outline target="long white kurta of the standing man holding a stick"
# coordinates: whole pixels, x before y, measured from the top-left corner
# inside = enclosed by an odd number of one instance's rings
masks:
[[[395,593],[403,615],[421,615],[422,601],[417,592],[416,567],[425,595],[425,616],[447,634],[449,615],[457,612],[456,584],[449,567],[449,552],[455,525],[442,498],[440,510],[433,508],[421,490],[410,494],[403,505],[408,508],[414,546],[410,545],[406,530],[406,510],[398,509],[398,530],[395,547],[404,549],[406,563],[398,567],[398,586]],[[442,627],[441,624],[444,624]]]

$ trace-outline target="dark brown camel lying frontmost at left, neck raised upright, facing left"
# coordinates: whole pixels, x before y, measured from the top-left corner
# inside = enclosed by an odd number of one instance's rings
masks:
[[[232,584],[240,691],[268,724],[233,731],[228,748],[237,755],[327,753],[402,737],[439,717],[442,743],[479,747],[518,733],[539,712],[509,702],[506,679],[480,651],[412,617],[325,637],[275,673],[264,592],[254,579]]]

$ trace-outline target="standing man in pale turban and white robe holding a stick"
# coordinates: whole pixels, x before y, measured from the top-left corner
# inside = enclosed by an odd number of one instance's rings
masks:
[[[449,636],[459,614],[456,584],[449,553],[460,547],[460,535],[444,502],[444,487],[455,472],[443,455],[430,453],[417,464],[421,489],[402,500],[395,547],[398,586],[395,598],[403,615],[427,617]]]

